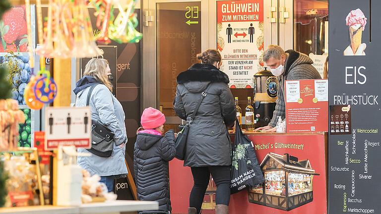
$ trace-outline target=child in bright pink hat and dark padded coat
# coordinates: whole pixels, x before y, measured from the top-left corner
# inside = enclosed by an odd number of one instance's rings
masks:
[[[163,136],[165,116],[152,107],[144,109],[140,123],[133,151],[137,198],[157,201],[159,211],[171,212],[168,161],[176,154],[174,132]]]

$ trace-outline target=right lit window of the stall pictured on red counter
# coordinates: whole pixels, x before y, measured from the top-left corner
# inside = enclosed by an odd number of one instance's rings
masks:
[[[288,196],[294,196],[311,191],[311,175],[299,173],[288,174]]]

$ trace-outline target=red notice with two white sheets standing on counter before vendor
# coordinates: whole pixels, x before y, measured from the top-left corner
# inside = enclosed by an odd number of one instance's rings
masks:
[[[285,81],[286,131],[327,132],[328,80]]]

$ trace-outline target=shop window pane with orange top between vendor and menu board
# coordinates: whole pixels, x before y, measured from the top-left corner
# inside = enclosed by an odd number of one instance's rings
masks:
[[[328,0],[294,0],[294,49],[328,53]]]

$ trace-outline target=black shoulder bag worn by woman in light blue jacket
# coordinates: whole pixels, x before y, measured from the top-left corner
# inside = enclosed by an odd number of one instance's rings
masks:
[[[89,106],[91,92],[97,85],[94,84],[90,87],[87,94],[86,106]],[[99,157],[110,157],[114,147],[114,133],[100,121],[91,119],[91,125],[91,149],[87,151]]]

